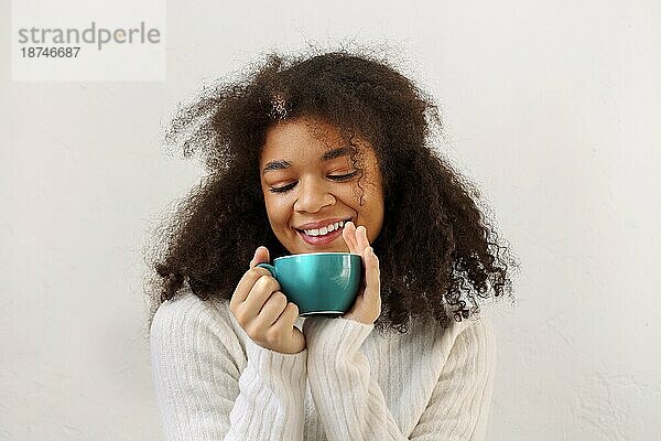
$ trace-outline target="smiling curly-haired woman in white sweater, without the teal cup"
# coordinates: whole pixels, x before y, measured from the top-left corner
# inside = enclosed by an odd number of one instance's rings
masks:
[[[480,440],[516,261],[430,147],[436,107],[387,62],[271,55],[169,140],[208,175],[156,243],[151,351],[169,440]],[[300,318],[259,262],[360,254],[339,318]]]

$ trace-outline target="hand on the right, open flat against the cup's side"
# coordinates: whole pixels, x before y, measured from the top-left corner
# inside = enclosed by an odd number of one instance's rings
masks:
[[[364,324],[372,324],[381,315],[379,258],[375,255],[372,247],[369,246],[365,226],[360,225],[356,228],[353,222],[347,222],[342,230],[342,237],[349,247],[349,251],[359,254],[362,257],[365,267],[365,277],[358,290],[356,303],[343,318]]]

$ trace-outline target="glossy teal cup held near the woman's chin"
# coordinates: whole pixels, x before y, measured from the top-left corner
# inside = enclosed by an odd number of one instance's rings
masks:
[[[360,255],[308,252],[279,257],[268,269],[299,314],[337,316],[349,310],[362,276]]]

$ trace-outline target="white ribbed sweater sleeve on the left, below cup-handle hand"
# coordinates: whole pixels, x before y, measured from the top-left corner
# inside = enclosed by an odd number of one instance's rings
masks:
[[[165,438],[303,440],[307,349],[281,354],[247,338],[240,359],[232,327],[184,300],[163,303],[150,333]]]

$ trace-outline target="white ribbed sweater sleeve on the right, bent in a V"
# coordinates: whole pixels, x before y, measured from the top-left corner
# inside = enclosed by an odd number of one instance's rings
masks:
[[[307,376],[328,440],[481,440],[495,354],[489,327],[477,323],[465,325],[454,340],[427,407],[408,438],[388,409],[369,361],[359,352],[373,324],[307,319]]]

